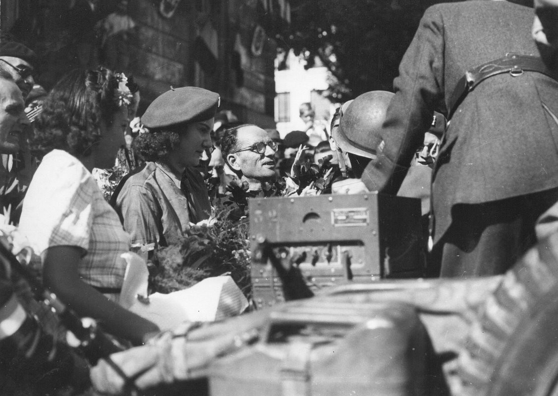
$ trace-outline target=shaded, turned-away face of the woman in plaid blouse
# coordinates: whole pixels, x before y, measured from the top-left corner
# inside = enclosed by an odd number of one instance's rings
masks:
[[[95,167],[112,168],[118,149],[126,143],[124,140],[124,131],[128,126],[128,107],[121,106],[118,112],[114,113],[110,124],[104,121],[100,124],[101,140],[94,148]]]

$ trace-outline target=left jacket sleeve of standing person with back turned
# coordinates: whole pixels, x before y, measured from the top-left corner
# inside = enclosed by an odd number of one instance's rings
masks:
[[[369,163],[363,181],[371,191],[396,194],[416,148],[424,139],[432,113],[444,96],[444,24],[438,8],[430,7],[393,81],[376,161]]]

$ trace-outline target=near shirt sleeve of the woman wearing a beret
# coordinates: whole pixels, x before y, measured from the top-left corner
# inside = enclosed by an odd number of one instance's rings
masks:
[[[124,230],[131,236],[132,247],[160,242],[162,225],[159,205],[146,187],[124,186],[118,194],[115,209],[122,215]]]

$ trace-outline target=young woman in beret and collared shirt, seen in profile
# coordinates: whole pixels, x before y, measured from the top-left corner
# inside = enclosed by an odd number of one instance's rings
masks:
[[[189,86],[158,96],[143,114],[149,132],[134,145],[146,165],[121,182],[113,197],[133,247],[145,252],[167,246],[190,224],[209,218],[208,191],[194,167],[204,151],[212,151],[218,106],[219,94]]]

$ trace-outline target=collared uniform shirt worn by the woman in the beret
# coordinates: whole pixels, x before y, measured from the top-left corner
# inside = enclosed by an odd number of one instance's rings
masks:
[[[137,247],[172,243],[190,223],[208,219],[211,206],[198,171],[186,168],[178,180],[166,166],[148,162],[124,183],[114,209]]]

